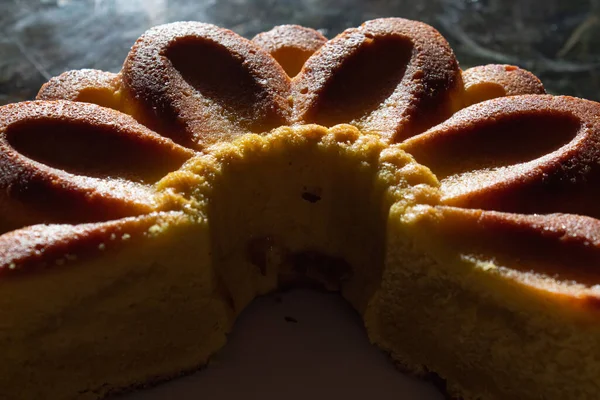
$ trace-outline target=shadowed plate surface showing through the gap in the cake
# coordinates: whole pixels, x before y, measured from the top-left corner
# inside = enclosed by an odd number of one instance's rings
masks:
[[[444,399],[371,345],[340,295],[304,289],[256,299],[207,368],[118,398]]]

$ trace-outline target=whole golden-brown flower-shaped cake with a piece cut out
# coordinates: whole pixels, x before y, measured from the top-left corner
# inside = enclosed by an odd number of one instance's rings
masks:
[[[0,108],[0,393],[194,371],[311,284],[450,396],[595,399],[599,142],[600,104],[423,23],[153,28]]]

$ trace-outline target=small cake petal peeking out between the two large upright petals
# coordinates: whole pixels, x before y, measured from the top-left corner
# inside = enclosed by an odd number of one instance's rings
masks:
[[[327,42],[319,31],[299,25],[279,25],[253,39],[283,67],[290,77],[298,75],[306,60]]]

